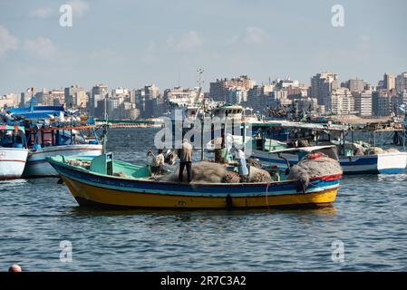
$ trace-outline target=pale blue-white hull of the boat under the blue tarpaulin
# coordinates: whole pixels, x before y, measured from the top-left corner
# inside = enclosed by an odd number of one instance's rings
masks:
[[[24,177],[56,177],[58,173],[46,161],[47,157],[58,155],[67,156],[99,156],[102,154],[102,145],[75,144],[45,147],[39,150],[31,150],[24,169]]]

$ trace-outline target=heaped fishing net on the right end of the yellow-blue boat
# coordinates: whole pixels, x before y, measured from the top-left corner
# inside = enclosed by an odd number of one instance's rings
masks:
[[[305,192],[309,179],[342,174],[342,172],[341,165],[337,160],[333,160],[323,153],[313,153],[308,154],[303,160],[293,165],[287,179],[297,180],[298,189],[302,189]]]

